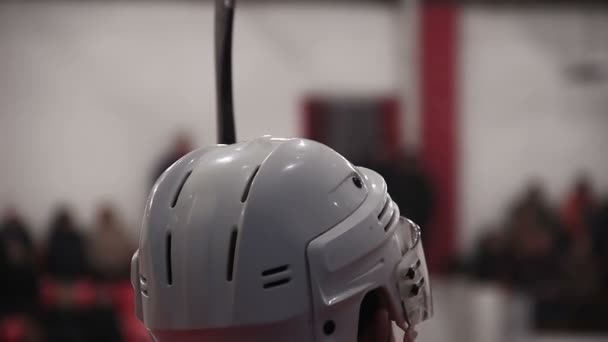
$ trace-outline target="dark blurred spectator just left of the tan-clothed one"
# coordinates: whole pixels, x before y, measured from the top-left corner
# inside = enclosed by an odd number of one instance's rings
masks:
[[[46,271],[58,280],[76,280],[88,273],[84,240],[71,213],[60,208],[50,227]]]

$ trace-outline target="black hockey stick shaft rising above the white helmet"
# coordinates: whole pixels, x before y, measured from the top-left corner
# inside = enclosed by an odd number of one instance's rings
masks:
[[[215,1],[215,82],[217,91],[217,139],[236,142],[232,100],[232,27],[236,0]]]

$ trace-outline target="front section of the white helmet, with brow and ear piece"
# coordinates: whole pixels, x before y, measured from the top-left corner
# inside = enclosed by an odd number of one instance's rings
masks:
[[[337,325],[335,340],[356,340],[356,332],[340,327],[360,319],[361,304],[374,291],[382,294],[390,319],[403,330],[433,313],[420,228],[400,217],[378,174],[357,169],[369,190],[365,202],[307,248],[319,341],[327,340],[322,325],[328,321]]]

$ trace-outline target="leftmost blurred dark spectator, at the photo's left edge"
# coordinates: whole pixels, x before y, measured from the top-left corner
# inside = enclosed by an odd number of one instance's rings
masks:
[[[33,313],[38,304],[34,243],[14,208],[0,222],[0,316]]]

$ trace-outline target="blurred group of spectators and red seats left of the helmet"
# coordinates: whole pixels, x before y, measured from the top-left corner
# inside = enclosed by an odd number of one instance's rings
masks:
[[[67,207],[43,243],[15,209],[0,219],[0,341],[121,341],[132,316],[135,245],[116,210],[98,208],[85,234]],[[124,319],[123,319],[124,318]]]

